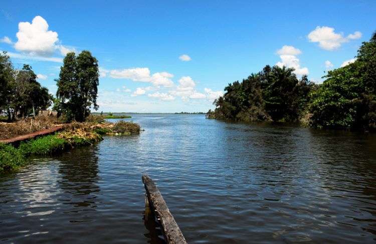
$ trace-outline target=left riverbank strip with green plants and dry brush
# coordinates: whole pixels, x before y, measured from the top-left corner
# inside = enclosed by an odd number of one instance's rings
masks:
[[[1,126],[3,125],[0,125],[0,128]],[[126,121],[110,123],[102,116],[95,116],[83,123],[64,124],[62,131],[53,135],[45,134],[32,139],[24,135],[26,140],[15,145],[0,143],[0,173],[14,171],[29,164],[30,156],[53,155],[78,146],[92,145],[103,140],[102,135],[105,134],[130,135],[139,131],[140,126],[136,123]],[[14,134],[19,133],[17,131]],[[34,134],[38,136],[38,133]]]

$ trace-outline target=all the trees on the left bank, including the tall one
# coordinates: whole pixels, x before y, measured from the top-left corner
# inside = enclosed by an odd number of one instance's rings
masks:
[[[40,110],[53,104],[58,117],[69,122],[84,121],[90,108],[98,109],[98,62],[90,52],[68,53],[55,81],[58,87],[56,98],[37,81],[30,65],[17,70],[3,52],[0,54],[0,113],[5,114],[8,121],[15,121],[35,117]]]

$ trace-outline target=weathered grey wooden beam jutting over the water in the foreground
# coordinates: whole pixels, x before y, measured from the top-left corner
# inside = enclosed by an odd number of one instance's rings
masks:
[[[145,185],[149,206],[154,210],[154,213],[163,228],[165,241],[168,244],[187,243],[153,180],[149,175],[144,174],[142,175],[142,181]]]

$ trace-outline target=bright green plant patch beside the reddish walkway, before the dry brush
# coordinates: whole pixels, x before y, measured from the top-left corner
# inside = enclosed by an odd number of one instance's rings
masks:
[[[48,155],[64,151],[68,142],[57,135],[49,135],[21,142],[19,150],[24,155]]]

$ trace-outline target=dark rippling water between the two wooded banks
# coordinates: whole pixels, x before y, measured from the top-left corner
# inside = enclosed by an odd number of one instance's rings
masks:
[[[147,243],[141,174],[190,243],[376,239],[376,137],[139,114],[140,135],[0,178],[0,240]]]

